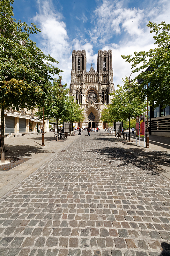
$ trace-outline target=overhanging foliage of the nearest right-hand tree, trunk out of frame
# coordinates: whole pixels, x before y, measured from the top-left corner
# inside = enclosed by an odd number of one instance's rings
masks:
[[[145,100],[147,95],[148,101],[155,107],[159,104],[166,107],[170,105],[170,24],[166,24],[165,21],[158,25],[149,22],[146,26],[151,28],[150,33],[155,33],[154,44],[158,47],[147,52],[134,52],[133,56],[122,55],[122,58],[132,62],[133,73],[146,69],[134,78],[134,81],[143,80],[143,83],[136,83],[133,87],[135,95],[141,100]]]

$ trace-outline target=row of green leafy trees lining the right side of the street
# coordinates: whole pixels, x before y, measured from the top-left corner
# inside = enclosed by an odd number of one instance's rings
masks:
[[[144,113],[146,95],[150,106],[170,105],[170,24],[149,22],[146,26],[151,28],[150,33],[155,33],[154,44],[158,47],[147,52],[134,52],[133,56],[122,55],[132,63],[132,73],[142,72],[131,81],[126,77],[124,86],[118,85],[119,89],[113,93],[113,104],[102,111],[101,117],[107,123],[128,120],[129,141],[130,119]],[[138,79],[142,83],[139,84]]]

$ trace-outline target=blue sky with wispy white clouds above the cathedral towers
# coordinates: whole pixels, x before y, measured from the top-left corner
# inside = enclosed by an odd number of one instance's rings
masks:
[[[115,89],[129,76],[131,65],[121,54],[154,48],[146,24],[170,23],[169,0],[15,0],[14,18],[34,22],[41,33],[32,36],[45,53],[59,61],[63,83],[70,83],[71,52],[86,50],[87,69],[97,68],[99,49],[111,49]]]

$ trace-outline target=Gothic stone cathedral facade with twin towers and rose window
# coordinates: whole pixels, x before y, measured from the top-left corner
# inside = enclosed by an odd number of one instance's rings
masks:
[[[86,70],[86,51],[72,51],[70,96],[73,96],[84,110],[84,120],[80,127],[103,127],[101,111],[111,104],[114,91],[112,51],[98,51],[97,70],[91,66]]]

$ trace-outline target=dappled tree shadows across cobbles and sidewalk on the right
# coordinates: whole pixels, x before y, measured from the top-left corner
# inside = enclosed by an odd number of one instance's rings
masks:
[[[116,142],[116,139],[110,138],[100,138],[95,137],[92,140],[99,140],[99,143],[104,144],[107,141]],[[121,140],[122,141],[122,140]],[[104,145],[103,145],[104,146]],[[113,147],[103,147],[93,149],[92,152],[101,155],[102,158],[105,158],[105,161],[112,163],[116,159],[123,162],[118,164],[117,167],[127,166],[128,164],[133,164],[136,167],[140,167],[142,170],[148,171],[148,174],[159,175],[160,173],[166,173],[167,171],[163,168],[160,168],[160,164],[169,167],[168,161],[169,154],[166,151],[148,151],[145,152],[143,148],[137,151],[139,157],[134,156],[129,151],[124,148],[115,147],[116,144],[113,144]],[[133,148],[129,148],[133,149]],[[141,159],[143,157],[143,159]],[[152,162],[151,162],[152,161]],[[159,169],[158,169],[159,168]]]

